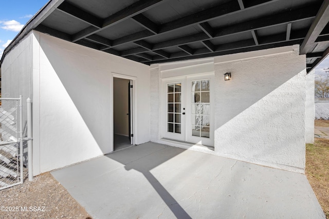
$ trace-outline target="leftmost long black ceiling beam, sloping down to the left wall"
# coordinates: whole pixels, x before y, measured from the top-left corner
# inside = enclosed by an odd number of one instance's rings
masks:
[[[81,30],[80,32],[74,34],[72,42],[79,41],[82,38],[85,38],[87,36],[90,36],[92,34],[99,32],[101,30],[104,30],[105,28],[118,24],[119,22],[122,22],[125,19],[129,19],[133,16],[136,16],[137,14],[140,14],[146,10],[149,10],[165,1],[166,0],[140,0],[136,3],[133,3],[132,5],[105,18],[103,21],[103,24],[102,24],[102,28],[95,29],[95,28],[88,27],[88,28]]]

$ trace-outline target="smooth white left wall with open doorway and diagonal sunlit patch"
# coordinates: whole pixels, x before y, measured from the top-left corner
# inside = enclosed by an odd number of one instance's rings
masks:
[[[149,66],[33,31],[34,175],[111,152],[112,74],[136,77],[136,144],[150,141]],[[36,98],[36,96],[34,97]],[[35,105],[37,105],[35,104]],[[38,114],[37,114],[38,113]],[[39,161],[38,161],[39,158]],[[39,169],[38,169],[39,162]],[[39,171],[38,171],[39,170]]]

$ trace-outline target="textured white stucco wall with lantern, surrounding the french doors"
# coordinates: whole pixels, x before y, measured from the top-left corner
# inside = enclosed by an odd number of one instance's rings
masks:
[[[214,150],[184,144],[190,148],[236,160],[295,172],[305,168],[305,56],[298,46],[238,53],[213,58],[215,74]],[[176,67],[174,67],[176,66]],[[211,71],[208,59],[151,66],[151,90],[156,81],[181,74]],[[170,68],[170,69],[167,69]],[[231,72],[231,81],[224,73]],[[151,95],[151,108],[156,98]],[[161,111],[151,117],[160,119]],[[161,142],[160,126],[151,124],[152,141]]]

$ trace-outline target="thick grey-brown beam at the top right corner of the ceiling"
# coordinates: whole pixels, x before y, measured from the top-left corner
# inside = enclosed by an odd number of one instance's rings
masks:
[[[329,0],[324,0],[312,25],[310,26],[306,37],[300,46],[300,54],[312,52],[315,48],[315,41],[322,32],[323,28],[329,22]]]

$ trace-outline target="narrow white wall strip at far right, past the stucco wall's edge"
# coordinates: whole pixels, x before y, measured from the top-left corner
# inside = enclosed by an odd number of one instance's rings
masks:
[[[315,70],[306,75],[306,124],[305,137],[306,143],[314,143],[314,74]]]

